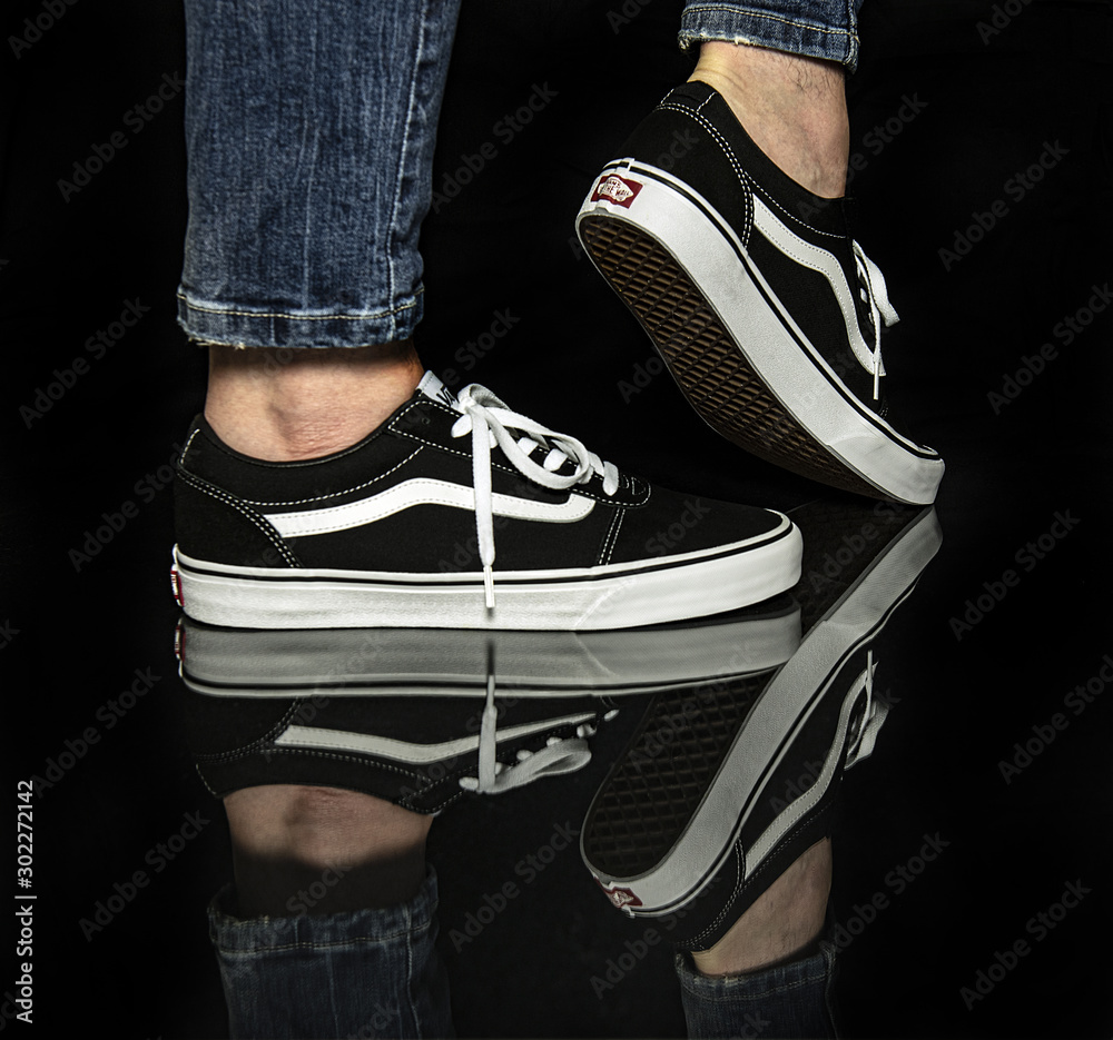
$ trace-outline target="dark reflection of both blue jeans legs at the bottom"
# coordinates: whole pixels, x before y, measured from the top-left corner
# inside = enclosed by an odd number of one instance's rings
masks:
[[[239,921],[227,898],[213,900],[209,932],[233,1037],[454,1036],[432,868],[413,900],[385,910]],[[686,953],[676,969],[689,1037],[835,1036],[834,943],[733,979],[698,974]]]

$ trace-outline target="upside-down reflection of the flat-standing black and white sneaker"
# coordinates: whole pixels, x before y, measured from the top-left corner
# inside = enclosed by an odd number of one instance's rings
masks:
[[[214,794],[315,784],[437,812],[469,791],[581,769],[631,696],[769,668],[799,642],[800,608],[784,594],[613,632],[270,632],[183,617],[175,653],[180,714]]]

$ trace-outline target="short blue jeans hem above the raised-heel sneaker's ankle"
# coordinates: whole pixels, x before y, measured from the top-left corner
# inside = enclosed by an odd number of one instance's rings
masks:
[[[680,18],[680,49],[691,57],[700,43],[720,40],[858,67],[861,0],[789,0],[776,3],[711,3],[692,0]]]

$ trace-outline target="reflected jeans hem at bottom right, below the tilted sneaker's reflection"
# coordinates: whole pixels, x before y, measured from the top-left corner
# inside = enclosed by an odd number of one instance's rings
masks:
[[[700,974],[689,953],[676,957],[690,1038],[835,1037],[835,947],[731,978]]]

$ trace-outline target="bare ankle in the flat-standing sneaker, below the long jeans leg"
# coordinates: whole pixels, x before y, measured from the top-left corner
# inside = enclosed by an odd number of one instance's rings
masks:
[[[205,417],[229,447],[270,462],[341,450],[413,394],[408,340],[371,347],[209,347]]]

